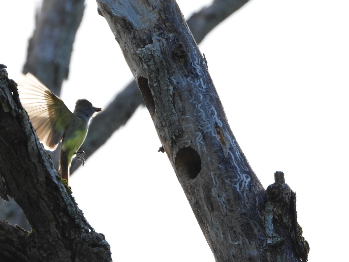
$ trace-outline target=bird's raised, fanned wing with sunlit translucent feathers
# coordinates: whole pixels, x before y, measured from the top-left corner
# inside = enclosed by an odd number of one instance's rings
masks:
[[[55,150],[66,130],[66,123],[75,117],[74,114],[30,73],[21,76],[18,93],[40,142],[46,150]]]

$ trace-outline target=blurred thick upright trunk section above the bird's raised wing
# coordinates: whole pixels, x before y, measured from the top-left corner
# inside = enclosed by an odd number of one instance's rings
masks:
[[[34,74],[58,96],[63,80],[68,78],[84,8],[84,0],[43,0],[35,15],[35,30],[29,39],[23,73]]]

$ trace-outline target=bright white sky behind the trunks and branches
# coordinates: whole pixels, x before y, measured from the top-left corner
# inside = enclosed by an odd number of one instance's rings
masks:
[[[86,2],[62,93],[70,109],[80,98],[105,107],[132,78],[96,2]],[[185,17],[200,9],[197,2],[178,1]],[[0,63],[15,79],[36,1],[1,3]],[[309,261],[342,261],[348,247],[348,7],[346,0],[252,0],[200,45],[231,129],[263,186],[281,170],[296,191]],[[159,146],[148,111],[138,109],[72,176],[73,196],[105,234],[114,261],[213,262]]]

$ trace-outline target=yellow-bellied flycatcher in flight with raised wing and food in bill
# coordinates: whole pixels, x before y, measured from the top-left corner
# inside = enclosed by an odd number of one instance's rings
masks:
[[[44,148],[53,151],[59,141],[62,142],[58,170],[68,182],[74,155],[84,164],[84,152],[78,150],[86,138],[90,119],[102,108],[93,107],[86,99],[79,99],[72,113],[58,96],[30,73],[22,75],[18,93]]]

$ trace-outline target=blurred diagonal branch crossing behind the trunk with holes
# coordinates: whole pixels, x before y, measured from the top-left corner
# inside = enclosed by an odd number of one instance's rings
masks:
[[[187,20],[187,24],[196,43],[199,44],[213,28],[246,2],[248,0],[215,0],[212,5],[193,14]],[[103,114],[98,114],[91,122],[87,137],[81,146],[81,150],[86,152],[85,159],[101,147],[120,126],[124,125],[141,104],[143,104],[143,98],[133,80],[106,107]],[[79,162],[73,161],[70,175],[80,166]]]

